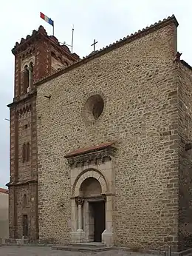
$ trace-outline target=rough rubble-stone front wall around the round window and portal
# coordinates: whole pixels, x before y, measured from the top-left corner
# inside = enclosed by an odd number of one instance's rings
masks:
[[[70,169],[64,155],[115,141],[115,245],[177,249],[175,53],[176,26],[170,23],[38,87],[40,239],[69,240]],[[85,106],[95,94],[104,109],[90,122]]]

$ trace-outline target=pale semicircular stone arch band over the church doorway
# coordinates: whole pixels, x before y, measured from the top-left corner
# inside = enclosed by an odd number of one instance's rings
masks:
[[[80,186],[87,178],[95,178],[99,181],[101,186],[102,194],[105,194],[109,191],[109,185],[106,181],[105,176],[96,169],[86,169],[85,171],[81,172],[80,175],[75,180],[72,188],[72,196],[78,196],[80,192]]]

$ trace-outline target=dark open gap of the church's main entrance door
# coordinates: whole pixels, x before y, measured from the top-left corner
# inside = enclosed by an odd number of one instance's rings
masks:
[[[102,233],[106,229],[106,202],[92,202],[93,218],[94,218],[94,242],[102,241]]]

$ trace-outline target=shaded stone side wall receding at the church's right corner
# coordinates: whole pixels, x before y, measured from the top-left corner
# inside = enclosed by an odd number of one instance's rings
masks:
[[[179,248],[192,247],[192,70],[178,66],[179,90]]]

